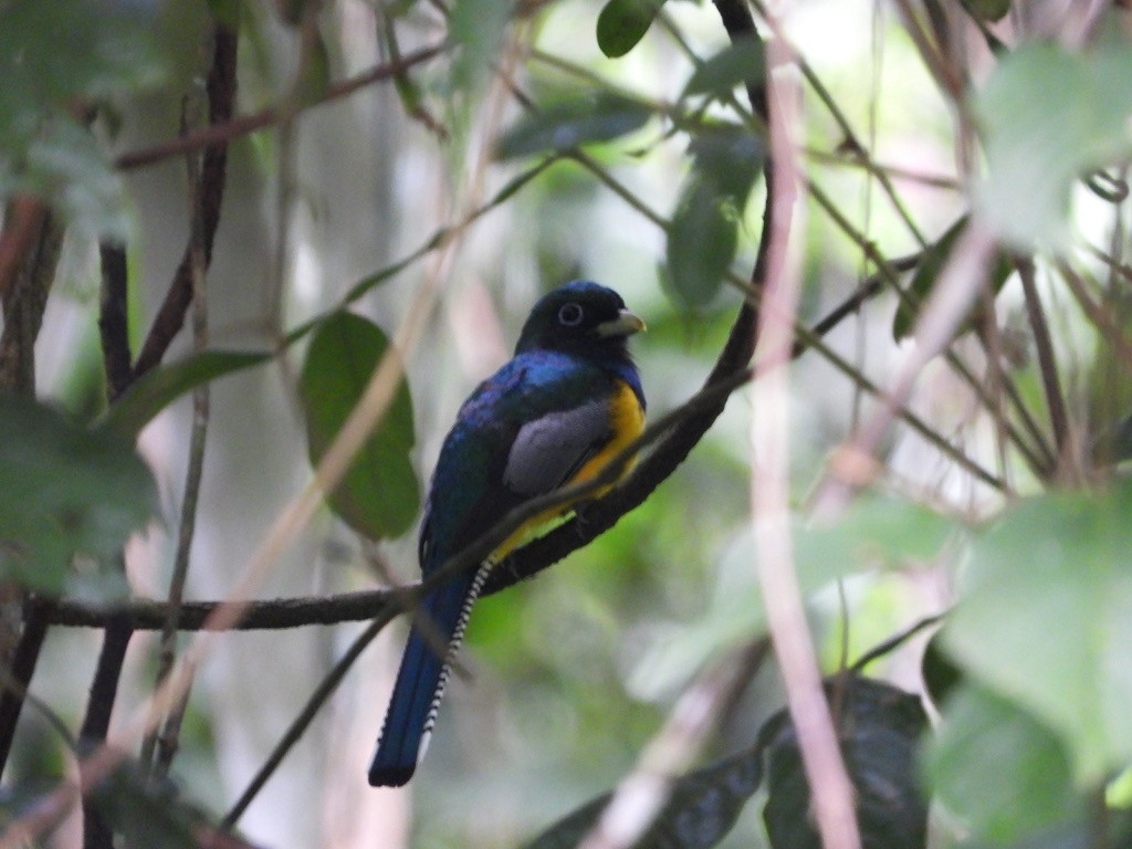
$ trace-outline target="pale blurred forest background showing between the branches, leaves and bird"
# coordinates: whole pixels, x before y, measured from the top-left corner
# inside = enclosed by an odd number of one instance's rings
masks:
[[[152,17],[162,72],[143,93],[118,97],[113,120],[96,126],[112,156],[177,135],[181,98],[200,96],[208,59],[208,5],[132,6]],[[495,198],[538,162],[492,156],[499,138],[524,115],[516,92],[546,102],[572,87],[614,88],[655,104],[664,115],[671,104],[685,102],[693,57],[706,59],[728,44],[710,3],[667,3],[648,35],[620,59],[599,49],[594,23],[603,3],[597,0],[534,2],[517,11],[498,0],[479,12],[470,6],[475,3],[456,2],[452,9],[379,0],[327,0],[295,9],[267,0],[231,9],[214,5],[239,16],[238,114],[302,103],[302,86],[325,91],[328,80],[439,43],[448,36],[446,16],[455,19],[460,9],[464,26],[474,19],[469,32],[482,43],[478,54],[465,45],[464,55],[473,57],[468,67],[448,57],[421,62],[400,85],[365,86],[230,144],[207,275],[209,346],[272,348],[288,331],[342,303],[360,281],[414,256],[441,229]],[[492,16],[499,20],[492,23]],[[968,200],[960,183],[970,154],[962,149],[954,104],[925,67],[899,8],[803,0],[781,10],[781,24],[822,86],[800,85],[799,163],[848,222],[833,221],[809,198],[797,209],[800,318],[813,323],[874,273],[865,246],[890,259],[916,254],[963,214]],[[1026,25],[1026,12],[1004,24]],[[309,44],[312,34],[317,49],[305,52],[303,40]],[[958,36],[978,80],[990,53],[970,27]],[[798,77],[796,69],[779,72]],[[735,91],[745,103],[740,93]],[[871,160],[886,168],[891,197],[846,155],[846,130],[827,104],[835,105]],[[726,101],[704,112],[719,120],[736,114]],[[648,321],[649,332],[633,340],[633,350],[650,417],[698,388],[741,294],[722,285],[692,302],[668,273],[666,232],[650,215],[667,218],[677,209],[691,168],[688,144],[686,132],[660,117],[588,145],[590,164],[556,162],[351,303],[393,337],[420,288],[437,293],[423,333],[405,355],[417,438],[412,462],[422,486],[461,401],[509,357],[533,301],[565,281],[610,285]],[[108,179],[114,181],[110,195],[120,203],[127,237],[136,346],[185,249],[186,170],[173,157],[112,171]],[[754,265],[762,192],[760,182],[731,211],[738,241],[730,267],[739,280],[747,280]],[[1104,226],[1090,217],[1094,203],[1079,199],[1086,232]],[[96,224],[68,232],[36,348],[38,393],[79,415],[96,411],[103,394],[97,234]],[[998,301],[1007,345],[1022,315],[1017,285],[1007,281]],[[891,294],[871,299],[826,340],[851,372],[880,385],[911,344],[893,340],[894,310]],[[1061,310],[1056,320],[1072,338],[1080,324],[1074,310]],[[181,334],[168,360],[190,352],[189,336]],[[1019,343],[1014,376],[1023,396],[1040,405],[1027,344]],[[978,370],[981,349],[964,345],[960,341],[957,350]],[[212,384],[189,598],[223,598],[280,512],[310,480],[295,384],[303,350],[299,343],[264,367]],[[799,508],[830,452],[873,403],[817,352],[791,367],[790,474]],[[910,406],[979,463],[998,462],[994,428],[950,369],[933,365]],[[366,651],[252,801],[239,823],[242,833],[281,848],[509,847],[615,786],[704,663],[763,627],[751,566],[751,412],[749,389],[736,393],[687,462],[641,508],[552,569],[477,606],[463,652],[468,675],[453,681],[429,757],[408,789],[375,790],[365,779],[404,638],[398,620]],[[161,598],[168,585],[191,420],[191,401],[185,397],[140,438],[158,479],[165,522],[129,547],[126,565],[138,595]],[[902,495],[964,515],[998,504],[989,488],[907,427],[889,431],[881,456],[887,480]],[[1009,465],[1012,483],[1026,491],[1028,473],[1018,463]],[[826,588],[812,597],[826,671],[843,652],[852,659],[947,603],[950,571],[929,563],[902,566],[865,572],[840,591]],[[418,575],[415,526],[375,543],[323,509],[259,594],[331,594]],[[847,633],[844,604],[851,610]],[[222,635],[199,669],[174,763],[187,792],[207,809],[224,812],[361,627]],[[54,628],[49,635],[35,688],[70,722],[79,717],[97,644],[93,631]],[[125,727],[152,692],[154,658],[155,637],[136,635],[115,728]],[[880,666],[878,672],[903,686],[918,686],[915,651]],[[709,756],[749,745],[761,722],[782,706],[773,662],[743,698]],[[17,775],[35,773],[58,761],[55,748],[42,720],[27,715],[12,769]],[[66,842],[68,834],[75,832],[65,829],[57,840]],[[724,846],[763,840],[758,811],[749,806]]]

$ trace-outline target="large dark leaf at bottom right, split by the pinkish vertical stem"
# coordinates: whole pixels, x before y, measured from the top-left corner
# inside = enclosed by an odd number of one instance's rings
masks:
[[[927,715],[919,697],[855,676],[831,678],[825,691],[854,786],[863,849],[924,849],[927,803],[916,771],[916,749],[927,730]],[[763,821],[771,846],[821,849],[798,734],[786,710],[766,722],[758,739],[766,760]]]

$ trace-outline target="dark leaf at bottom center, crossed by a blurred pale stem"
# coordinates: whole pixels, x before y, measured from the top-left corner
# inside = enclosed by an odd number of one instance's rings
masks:
[[[762,754],[753,748],[676,779],[668,804],[635,849],[711,849],[735,825],[762,781]],[[590,833],[612,794],[566,815],[524,849],[571,849]]]

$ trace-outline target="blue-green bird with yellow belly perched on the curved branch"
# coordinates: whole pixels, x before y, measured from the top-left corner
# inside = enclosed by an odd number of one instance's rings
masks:
[[[592,479],[641,435],[645,398],[628,338],[643,329],[617,292],[590,281],[566,283],[534,305],[514,357],[464,401],[440,447],[418,543],[424,578],[516,506]],[[451,662],[491,567],[577,506],[533,516],[478,569],[422,598],[369,767],[371,786],[408,783],[423,757]]]

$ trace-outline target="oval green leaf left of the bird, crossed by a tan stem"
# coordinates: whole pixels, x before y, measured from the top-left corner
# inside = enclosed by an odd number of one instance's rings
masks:
[[[312,464],[334,441],[387,353],[396,355],[385,334],[352,312],[335,312],[315,331],[299,376]],[[420,508],[409,457],[414,440],[412,398],[402,378],[385,417],[329,494],[331,509],[370,539],[409,530]]]

